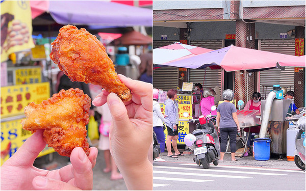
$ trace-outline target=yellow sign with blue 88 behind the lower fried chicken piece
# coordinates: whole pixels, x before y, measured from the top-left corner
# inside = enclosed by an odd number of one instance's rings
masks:
[[[31,135],[31,131],[22,129],[21,119],[1,122],[1,165],[10,158]],[[54,152],[52,147],[46,147],[38,157]]]

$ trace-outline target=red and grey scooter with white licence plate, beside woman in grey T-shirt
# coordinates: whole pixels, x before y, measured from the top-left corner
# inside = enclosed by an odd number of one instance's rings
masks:
[[[213,105],[212,111],[216,110],[216,106]],[[188,113],[183,114],[184,117],[188,117]],[[188,146],[190,150],[193,150],[195,158],[193,159],[198,166],[202,165],[203,169],[208,169],[210,162],[213,162],[215,166],[219,164],[218,156],[220,155],[220,142],[219,135],[214,123],[210,120],[216,117],[216,115],[199,116],[198,119],[191,119],[187,123],[195,123],[196,129],[192,132],[196,140],[192,146]]]

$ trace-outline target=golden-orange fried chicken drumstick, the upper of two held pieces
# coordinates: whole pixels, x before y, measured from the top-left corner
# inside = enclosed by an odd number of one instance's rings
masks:
[[[65,25],[51,44],[50,58],[71,81],[99,85],[123,101],[132,98],[129,88],[119,80],[103,44],[85,29]]]

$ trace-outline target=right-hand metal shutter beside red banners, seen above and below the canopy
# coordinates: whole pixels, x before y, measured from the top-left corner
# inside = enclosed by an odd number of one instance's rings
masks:
[[[259,49],[264,51],[284,53],[294,55],[295,39],[261,39]],[[274,68],[260,72],[260,91],[263,97],[273,90],[272,87],[264,88],[263,86],[273,86],[275,84],[281,87],[288,87],[288,90],[294,90],[294,68],[287,67],[285,70]]]

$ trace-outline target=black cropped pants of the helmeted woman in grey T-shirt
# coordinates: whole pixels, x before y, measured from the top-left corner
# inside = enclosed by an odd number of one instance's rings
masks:
[[[237,127],[220,128],[221,152],[226,152],[227,137],[230,135],[231,152],[236,152]]]

